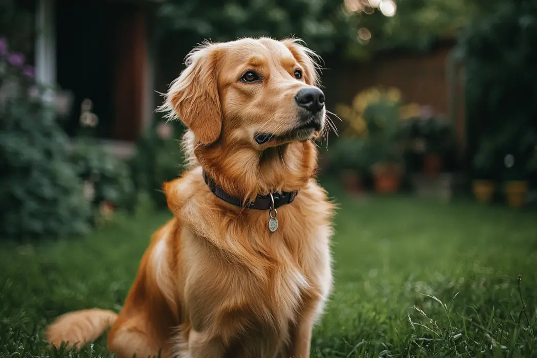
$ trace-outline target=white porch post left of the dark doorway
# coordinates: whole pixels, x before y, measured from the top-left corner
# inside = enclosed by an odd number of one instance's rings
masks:
[[[35,79],[46,86],[56,83],[54,2],[54,0],[38,0],[36,9]]]

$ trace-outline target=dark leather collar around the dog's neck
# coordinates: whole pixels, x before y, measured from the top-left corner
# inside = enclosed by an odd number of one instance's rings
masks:
[[[219,185],[217,185],[214,182],[214,180],[211,177],[209,177],[205,171],[203,172],[203,176],[204,176],[206,184],[208,185],[209,189],[211,189],[211,192],[213,192],[214,195],[216,195],[218,198],[222,199],[225,202],[228,202],[238,207],[243,207],[243,203],[241,199],[236,198],[235,196],[232,196],[226,193],[224,189],[222,189]],[[296,198],[296,194],[298,194],[297,191],[271,193],[269,195],[258,195],[254,201],[250,203],[246,203],[244,207],[250,208],[250,209],[258,209],[258,210],[277,209],[282,205],[292,203]],[[274,198],[274,207],[272,205],[273,201],[272,201],[271,195],[272,195],[272,198]]]

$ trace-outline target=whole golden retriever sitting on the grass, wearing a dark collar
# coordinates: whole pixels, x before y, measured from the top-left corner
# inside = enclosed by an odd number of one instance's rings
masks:
[[[189,161],[163,186],[153,235],[119,314],[66,313],[46,331],[78,346],[105,330],[120,358],[306,358],[332,287],[335,207],[315,179],[325,126],[316,56],[296,39],[205,43],[159,107]]]

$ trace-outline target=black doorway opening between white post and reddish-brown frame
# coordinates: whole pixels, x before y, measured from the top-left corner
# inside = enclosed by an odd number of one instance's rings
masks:
[[[72,91],[74,102],[64,128],[75,135],[81,103],[89,98],[99,123],[95,134],[113,137],[113,18],[119,9],[106,2],[61,0],[56,2],[57,82]]]

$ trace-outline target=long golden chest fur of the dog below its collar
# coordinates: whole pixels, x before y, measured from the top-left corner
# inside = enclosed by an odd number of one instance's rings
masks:
[[[280,352],[302,306],[321,313],[330,293],[332,208],[317,186],[299,195],[278,210],[273,233],[265,211],[237,215],[197,200],[181,210],[185,315],[195,331],[249,350],[237,356]]]

